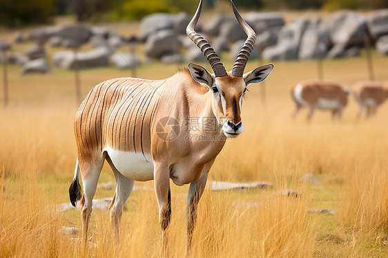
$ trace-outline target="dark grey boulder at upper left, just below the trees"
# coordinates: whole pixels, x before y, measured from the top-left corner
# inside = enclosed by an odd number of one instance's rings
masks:
[[[84,23],[70,23],[59,25],[55,28],[55,36],[59,36],[62,39],[75,41],[79,44],[86,43],[92,32],[88,26]]]

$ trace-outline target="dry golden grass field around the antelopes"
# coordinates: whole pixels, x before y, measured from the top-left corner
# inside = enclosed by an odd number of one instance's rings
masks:
[[[374,54],[375,76],[388,81],[387,57]],[[233,62],[226,57],[226,68]],[[258,61],[249,62],[246,70]],[[193,257],[387,257],[388,256],[388,105],[373,119],[356,121],[352,98],[341,123],[329,112],[307,111],[291,119],[290,88],[314,79],[316,63],[275,62],[264,84],[249,86],[242,108],[244,133],[226,143],[210,180],[269,181],[269,190],[211,192],[200,201]],[[204,64],[206,66],[206,64]],[[184,65],[185,66],[185,65]],[[368,78],[365,57],[327,60],[324,77],[343,86]],[[208,68],[208,66],[206,66]],[[146,79],[169,77],[177,66],[155,63],[139,68]],[[100,81],[130,71],[81,71],[83,96]],[[72,116],[75,103],[71,71],[19,74],[9,67],[10,106],[0,108],[1,257],[84,257],[79,210],[59,212],[68,202],[75,166]],[[261,100],[264,85],[266,98]],[[0,95],[2,99],[2,95]],[[318,183],[302,182],[311,173]],[[107,166],[100,182],[114,182]],[[122,219],[122,245],[115,248],[107,210],[94,210],[90,257],[158,257],[160,227],[153,181],[135,183]],[[284,197],[292,189],[298,197]],[[184,210],[188,186],[172,184],[171,255],[182,257],[186,239]],[[95,198],[113,197],[97,189]],[[309,213],[327,208],[331,214]]]

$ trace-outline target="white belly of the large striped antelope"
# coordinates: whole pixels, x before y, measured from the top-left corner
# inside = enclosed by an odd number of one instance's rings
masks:
[[[153,159],[151,155],[143,155],[142,152],[114,150],[109,147],[104,148],[104,151],[108,153],[115,168],[125,177],[136,181],[153,179]]]

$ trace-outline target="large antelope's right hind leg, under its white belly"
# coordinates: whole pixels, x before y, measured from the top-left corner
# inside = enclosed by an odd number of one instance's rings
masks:
[[[115,235],[116,244],[119,244],[120,221],[122,220],[124,204],[128,199],[130,192],[133,190],[135,180],[124,177],[124,175],[122,175],[122,173],[120,173],[119,170],[115,168],[109,157],[106,157],[106,161],[108,161],[110,168],[112,168],[117,182],[115,195],[109,206],[109,215],[110,225],[112,226]]]

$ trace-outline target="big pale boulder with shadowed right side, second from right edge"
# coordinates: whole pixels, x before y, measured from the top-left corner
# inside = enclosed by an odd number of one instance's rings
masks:
[[[341,11],[324,21],[334,45],[363,46],[368,37],[367,19],[356,12]]]

